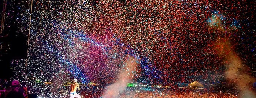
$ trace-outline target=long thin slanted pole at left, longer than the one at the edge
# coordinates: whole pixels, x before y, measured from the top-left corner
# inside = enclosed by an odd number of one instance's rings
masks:
[[[31,17],[32,17],[32,7],[33,6],[33,0],[31,0],[31,9],[30,9],[30,21],[29,21],[29,34],[28,34],[28,39],[27,39],[27,58],[28,58],[28,55],[29,55],[29,39],[30,39],[30,28],[31,28]],[[26,80],[27,80],[27,58],[25,60],[25,85],[26,85]]]

